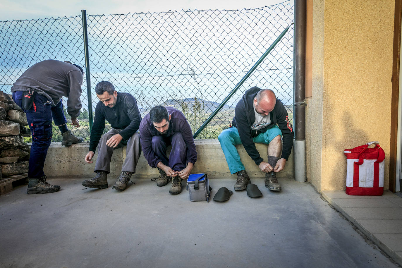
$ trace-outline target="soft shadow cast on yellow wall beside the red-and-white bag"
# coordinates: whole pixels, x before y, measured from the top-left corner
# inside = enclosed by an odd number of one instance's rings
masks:
[[[326,135],[326,137],[329,137],[325,141],[329,145],[329,151],[334,151],[332,155],[327,157],[327,161],[333,160],[331,161],[332,163],[327,163],[330,177],[326,178],[328,180],[326,185],[329,186],[329,189],[322,188],[322,190],[346,190],[347,163],[343,151],[370,142],[367,133],[356,127],[353,119],[351,113],[345,111],[343,117],[338,119],[340,120],[338,122],[340,122],[339,127],[341,129],[336,133],[340,135],[328,135],[329,133]],[[330,169],[332,169],[332,172],[330,172]]]

